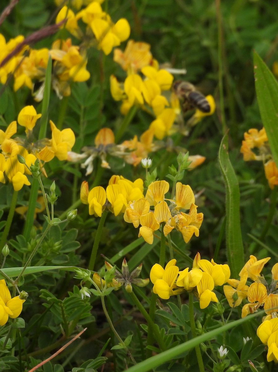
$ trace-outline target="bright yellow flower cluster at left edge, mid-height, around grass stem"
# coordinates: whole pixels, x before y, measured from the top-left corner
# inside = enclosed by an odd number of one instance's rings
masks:
[[[17,132],[16,121],[10,123],[5,132],[0,129],[0,182],[6,182],[5,173],[16,191],[22,189],[23,185],[30,185],[26,174],[31,174],[28,167],[35,164],[36,159],[46,162],[56,156],[59,160],[66,160],[68,151],[75,143],[75,135],[71,129],[60,131],[51,120],[51,140],[45,138],[35,143],[28,142],[30,133],[41,116],[33,106],[25,106],[20,111],[17,122],[26,128],[27,140],[19,137],[11,138]],[[23,156],[27,166],[18,161],[17,155]]]

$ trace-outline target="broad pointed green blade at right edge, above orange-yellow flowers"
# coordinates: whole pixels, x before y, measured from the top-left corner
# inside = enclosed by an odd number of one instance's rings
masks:
[[[262,123],[273,159],[278,166],[278,83],[261,57],[254,52],[256,94]]]

